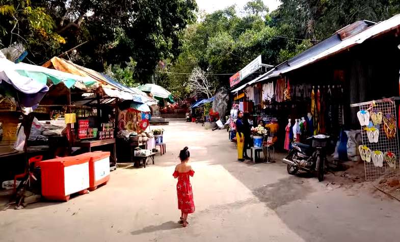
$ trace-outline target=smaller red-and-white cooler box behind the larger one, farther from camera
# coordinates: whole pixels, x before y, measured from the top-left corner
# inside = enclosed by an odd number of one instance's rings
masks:
[[[110,180],[110,152],[96,151],[78,155],[89,158],[89,190]]]

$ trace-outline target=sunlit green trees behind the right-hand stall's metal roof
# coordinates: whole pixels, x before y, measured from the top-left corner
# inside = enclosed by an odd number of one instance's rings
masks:
[[[190,74],[182,73],[200,67],[215,87],[227,87],[232,73],[258,55],[265,64],[280,64],[355,21],[390,18],[399,6],[394,0],[281,0],[269,12],[261,0],[253,0],[240,10],[217,10],[185,30],[183,51],[159,82],[184,86]]]

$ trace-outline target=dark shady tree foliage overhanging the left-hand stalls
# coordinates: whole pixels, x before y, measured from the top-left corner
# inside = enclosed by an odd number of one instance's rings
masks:
[[[40,64],[87,41],[66,58],[102,71],[131,57],[146,82],[159,60],[179,56],[196,9],[195,0],[0,0],[0,44],[21,42]]]

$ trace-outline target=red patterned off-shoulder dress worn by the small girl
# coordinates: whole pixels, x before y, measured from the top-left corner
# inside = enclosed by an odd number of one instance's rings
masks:
[[[176,184],[176,193],[178,195],[178,209],[184,213],[195,212],[195,203],[193,202],[192,184],[190,184],[189,176],[193,176],[193,170],[189,172],[179,173],[175,171],[173,176],[178,177]]]

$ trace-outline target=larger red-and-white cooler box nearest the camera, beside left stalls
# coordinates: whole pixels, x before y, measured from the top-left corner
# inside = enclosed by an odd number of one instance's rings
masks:
[[[42,196],[49,200],[68,201],[69,195],[89,188],[89,158],[60,157],[40,162]]]

